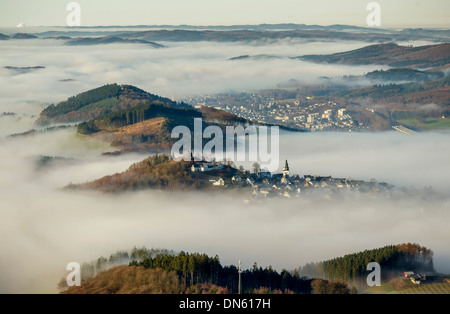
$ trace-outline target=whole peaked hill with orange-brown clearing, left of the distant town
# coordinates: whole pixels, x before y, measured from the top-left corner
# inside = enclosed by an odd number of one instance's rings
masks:
[[[178,125],[194,130],[194,118],[203,127],[251,123],[214,108],[199,110],[185,103],[145,92],[131,85],[109,84],[45,108],[37,124],[76,123],[83,136],[120,146],[121,151],[167,150],[176,140],[171,131]]]

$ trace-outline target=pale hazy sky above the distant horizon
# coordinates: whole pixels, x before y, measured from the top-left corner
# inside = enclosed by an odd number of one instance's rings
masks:
[[[64,26],[70,0],[0,0],[0,27]],[[260,23],[366,26],[370,0],[78,0],[81,25],[232,25]],[[378,0],[383,27],[448,27],[448,0]]]

